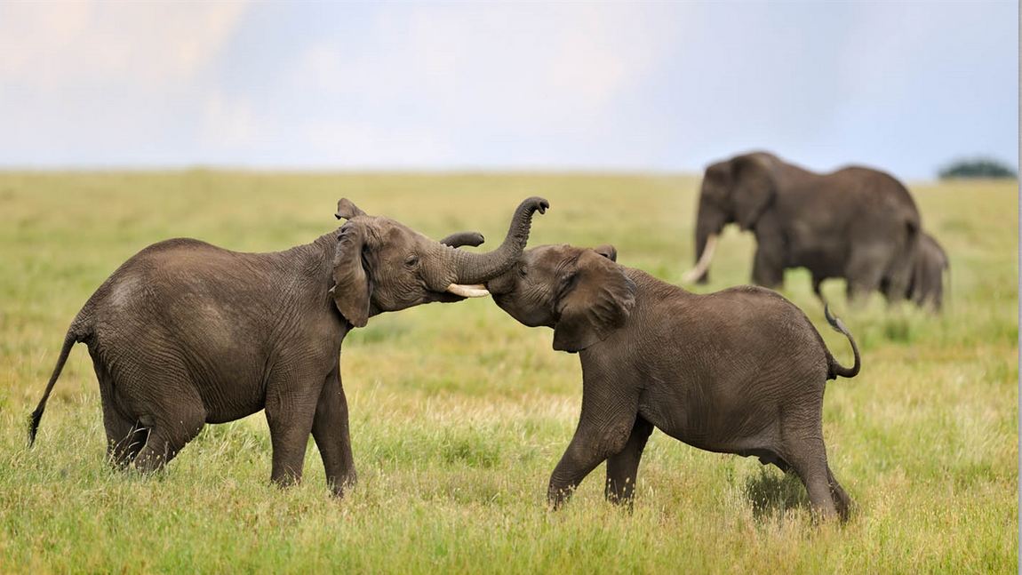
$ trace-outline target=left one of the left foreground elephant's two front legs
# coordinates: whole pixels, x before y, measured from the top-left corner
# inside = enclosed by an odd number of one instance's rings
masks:
[[[271,381],[267,386],[266,421],[273,443],[270,479],[286,486],[301,481],[306,447],[322,391],[323,380],[315,384]]]

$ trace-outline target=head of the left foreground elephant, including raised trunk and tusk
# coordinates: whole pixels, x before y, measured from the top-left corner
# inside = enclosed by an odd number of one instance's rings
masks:
[[[478,245],[481,235],[462,233],[440,242],[389,218],[368,215],[351,200],[337,202],[338,230],[331,294],[340,314],[355,327],[369,317],[431,301],[460,301],[489,295],[482,282],[514,266],[528,241],[532,213],[550,206],[543,198],[521,202],[507,237],[489,253],[455,249]]]

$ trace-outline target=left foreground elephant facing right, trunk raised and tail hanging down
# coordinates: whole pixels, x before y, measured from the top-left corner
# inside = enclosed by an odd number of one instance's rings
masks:
[[[72,346],[82,341],[99,380],[114,464],[159,469],[204,424],[265,409],[273,481],[300,479],[312,433],[327,482],[341,495],[356,481],[338,367],[344,335],[382,312],[463,299],[445,290],[510,269],[532,213],[547,206],[541,198],[522,202],[504,243],[482,254],[367,215],[346,199],[338,202],[337,218],[347,219],[338,231],[286,251],[240,253],[192,239],[153,244],[122,265],[72,323],[32,415],[30,442]]]

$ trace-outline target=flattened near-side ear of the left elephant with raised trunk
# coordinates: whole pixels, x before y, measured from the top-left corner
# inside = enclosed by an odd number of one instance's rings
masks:
[[[337,234],[333,253],[333,303],[353,326],[369,323],[369,298],[372,281],[366,270],[363,250],[366,244],[365,224],[349,222]]]

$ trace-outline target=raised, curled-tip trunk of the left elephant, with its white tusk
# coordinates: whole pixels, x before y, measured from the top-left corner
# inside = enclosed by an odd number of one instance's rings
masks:
[[[540,197],[530,197],[521,202],[518,208],[515,209],[514,217],[511,219],[511,226],[508,228],[508,234],[504,238],[504,243],[493,251],[487,253],[472,253],[451,249],[449,253],[453,259],[456,279],[451,286],[455,289],[448,288],[448,291],[457,295],[471,297],[477,293],[471,290],[481,290],[482,288],[481,286],[466,284],[481,284],[510,270],[515,261],[521,257],[521,252],[525,249],[525,244],[528,242],[528,232],[532,225],[532,214],[537,211],[544,213],[548,207],[550,207],[550,202]],[[468,288],[469,291],[458,293],[456,290],[459,288]],[[485,293],[481,293],[481,295],[485,295]]]

